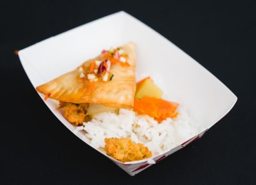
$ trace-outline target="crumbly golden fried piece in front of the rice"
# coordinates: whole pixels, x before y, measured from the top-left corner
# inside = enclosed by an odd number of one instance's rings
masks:
[[[105,138],[105,151],[122,162],[138,161],[152,156],[143,144],[132,142],[131,138]]]

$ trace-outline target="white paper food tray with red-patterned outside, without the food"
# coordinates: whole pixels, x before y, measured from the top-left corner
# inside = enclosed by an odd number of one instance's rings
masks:
[[[86,59],[97,56],[103,48],[117,47],[128,41],[136,44],[137,77],[152,77],[163,90],[163,98],[179,102],[201,128],[195,136],[173,149],[141,161],[122,163],[97,150],[128,174],[135,175],[202,137],[230,111],[237,97],[171,41],[124,11],[24,48],[19,51],[19,57],[29,80],[36,87],[75,69]],[[88,138],[61,115],[57,101],[47,99],[44,102],[70,131],[90,145]]]

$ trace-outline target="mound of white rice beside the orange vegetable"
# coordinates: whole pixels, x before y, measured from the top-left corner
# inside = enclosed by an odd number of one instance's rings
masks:
[[[148,115],[137,115],[132,110],[120,109],[119,114],[104,112],[84,122],[86,137],[90,144],[99,149],[105,146],[104,138],[131,138],[148,147],[152,155],[161,154],[198,134],[198,125],[179,108],[175,119],[168,118],[161,123]],[[81,128],[79,128],[81,129]]]

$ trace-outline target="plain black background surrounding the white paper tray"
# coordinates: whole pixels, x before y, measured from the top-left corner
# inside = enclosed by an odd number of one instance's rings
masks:
[[[252,2],[1,3],[0,184],[255,184],[256,14]],[[238,97],[230,113],[203,138],[134,177],[56,119],[13,54],[15,49],[120,10],[182,48]]]

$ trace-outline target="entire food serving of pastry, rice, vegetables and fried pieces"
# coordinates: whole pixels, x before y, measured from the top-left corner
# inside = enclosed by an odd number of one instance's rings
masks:
[[[134,43],[102,50],[75,70],[36,87],[60,101],[90,145],[122,161],[147,159],[196,132],[179,103],[163,100],[150,77],[136,83]]]

